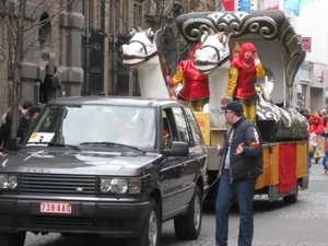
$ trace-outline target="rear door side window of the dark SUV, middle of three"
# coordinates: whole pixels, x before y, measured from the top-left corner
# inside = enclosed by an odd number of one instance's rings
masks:
[[[177,131],[179,134],[180,141],[188,143],[189,147],[194,145],[194,141],[191,137],[190,126],[188,125],[183,108],[174,107],[173,114],[177,127]]]

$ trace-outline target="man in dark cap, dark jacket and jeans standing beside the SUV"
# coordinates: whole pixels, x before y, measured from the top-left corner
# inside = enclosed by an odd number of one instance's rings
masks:
[[[254,235],[253,198],[257,177],[262,174],[262,140],[258,128],[244,116],[238,101],[221,107],[229,131],[223,147],[218,144],[222,173],[215,202],[215,246],[227,246],[229,213],[239,207],[238,246],[250,246]]]

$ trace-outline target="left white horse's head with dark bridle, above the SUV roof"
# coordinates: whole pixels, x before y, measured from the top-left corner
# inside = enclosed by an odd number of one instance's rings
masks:
[[[138,27],[138,31],[132,28],[129,44],[122,45],[121,61],[128,69],[137,69],[159,55],[157,43],[161,31],[153,33],[152,28],[143,31],[141,27]]]

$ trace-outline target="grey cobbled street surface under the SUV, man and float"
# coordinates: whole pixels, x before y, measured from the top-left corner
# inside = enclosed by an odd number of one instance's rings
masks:
[[[311,168],[309,188],[300,190],[298,201],[285,204],[282,199],[269,202],[267,197],[256,197],[255,236],[253,246],[328,246],[328,174],[321,161]],[[202,230],[199,238],[181,242],[175,237],[173,222],[163,225],[160,246],[214,246],[215,218],[211,203],[204,203]],[[230,218],[229,246],[237,246],[238,211]],[[45,236],[28,233],[25,246],[116,246],[121,241]]]

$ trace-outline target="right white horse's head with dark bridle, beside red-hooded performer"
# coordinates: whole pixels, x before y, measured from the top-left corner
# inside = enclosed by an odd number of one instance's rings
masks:
[[[230,35],[223,32],[204,31],[201,36],[201,48],[195,52],[195,65],[199,72],[210,74],[216,69],[230,68]]]

